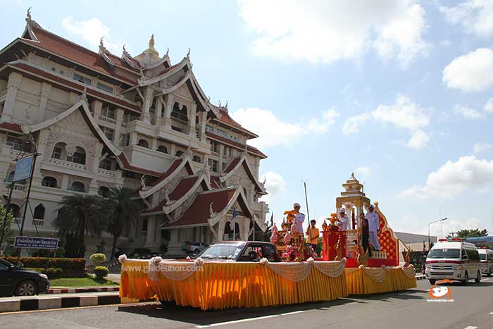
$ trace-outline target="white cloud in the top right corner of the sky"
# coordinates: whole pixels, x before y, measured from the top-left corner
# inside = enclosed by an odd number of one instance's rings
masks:
[[[441,6],[449,22],[461,24],[466,32],[488,37],[493,35],[493,2],[491,0],[467,0],[456,6]]]

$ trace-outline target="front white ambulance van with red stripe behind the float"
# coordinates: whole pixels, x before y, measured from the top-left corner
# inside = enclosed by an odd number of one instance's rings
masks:
[[[480,254],[472,243],[461,239],[440,239],[426,257],[425,275],[430,284],[449,279],[467,284],[470,278],[481,281]]]

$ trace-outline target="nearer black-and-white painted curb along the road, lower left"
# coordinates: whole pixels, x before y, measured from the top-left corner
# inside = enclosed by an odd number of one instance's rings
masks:
[[[0,314],[2,312],[35,311],[43,309],[64,309],[67,307],[130,304],[149,302],[149,300],[129,299],[116,294],[93,296],[63,296],[63,297],[34,297],[29,299],[3,299],[0,300]],[[155,302],[154,299],[151,299]]]

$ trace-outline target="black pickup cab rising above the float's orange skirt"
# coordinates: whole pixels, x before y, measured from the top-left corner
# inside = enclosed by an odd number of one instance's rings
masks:
[[[224,259],[230,261],[280,261],[277,248],[270,242],[260,241],[222,241],[208,246],[199,255],[204,261]]]

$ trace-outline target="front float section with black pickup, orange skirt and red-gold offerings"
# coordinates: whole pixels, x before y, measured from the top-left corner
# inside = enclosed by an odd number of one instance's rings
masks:
[[[292,215],[282,231],[273,228],[280,251],[269,242],[225,241],[212,244],[196,259],[120,256],[120,297],[155,298],[203,310],[347,297],[346,259],[314,261],[316,254],[304,243],[303,233],[292,230]]]

